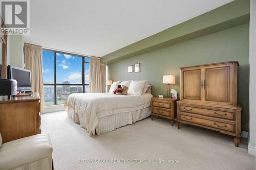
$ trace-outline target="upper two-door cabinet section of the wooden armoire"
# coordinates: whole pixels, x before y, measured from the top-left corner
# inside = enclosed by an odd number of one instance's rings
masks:
[[[231,62],[181,68],[181,100],[237,106],[237,66]]]

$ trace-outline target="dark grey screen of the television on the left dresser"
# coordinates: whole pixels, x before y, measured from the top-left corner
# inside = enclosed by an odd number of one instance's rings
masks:
[[[17,80],[18,87],[30,87],[30,72],[12,68],[12,79]]]

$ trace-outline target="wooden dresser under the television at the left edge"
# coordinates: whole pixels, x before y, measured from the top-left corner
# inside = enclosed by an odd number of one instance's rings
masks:
[[[3,142],[41,133],[39,100],[30,96],[0,100],[0,133]]]

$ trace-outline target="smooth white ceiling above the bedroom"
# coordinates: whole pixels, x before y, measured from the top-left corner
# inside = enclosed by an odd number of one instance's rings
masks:
[[[33,0],[25,42],[102,57],[232,0]]]

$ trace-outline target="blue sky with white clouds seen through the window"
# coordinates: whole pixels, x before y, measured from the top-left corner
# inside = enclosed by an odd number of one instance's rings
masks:
[[[85,58],[85,61],[90,61]],[[54,83],[54,52],[42,51],[42,72],[44,83]],[[56,53],[56,82],[82,83],[82,58]],[[84,81],[89,84],[89,64],[84,63]]]

